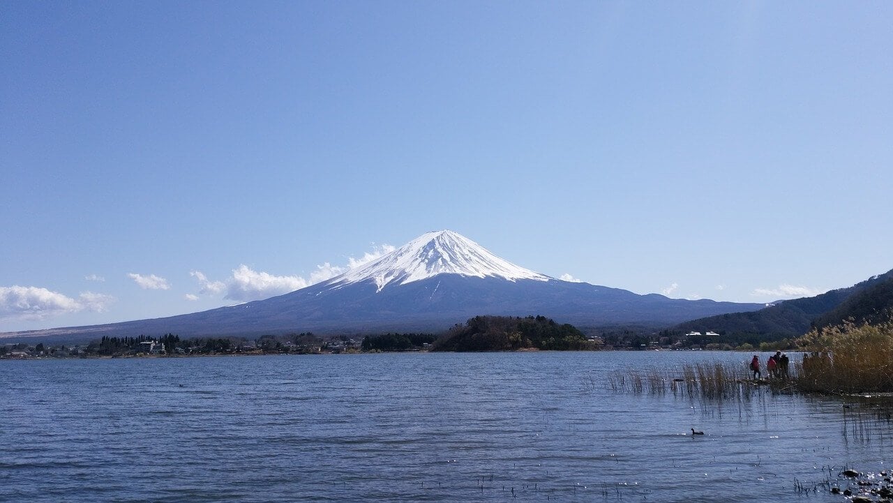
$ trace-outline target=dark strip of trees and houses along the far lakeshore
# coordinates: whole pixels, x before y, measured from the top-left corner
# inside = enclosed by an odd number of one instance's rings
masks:
[[[749,342],[748,342],[749,341]],[[584,329],[545,316],[475,316],[441,333],[387,332],[377,335],[325,335],[300,332],[246,337],[181,338],[104,336],[79,344],[0,342],[0,358],[123,357],[331,354],[396,351],[518,351],[605,349],[707,349],[774,351],[794,348],[791,340],[758,337],[692,337],[647,327]]]

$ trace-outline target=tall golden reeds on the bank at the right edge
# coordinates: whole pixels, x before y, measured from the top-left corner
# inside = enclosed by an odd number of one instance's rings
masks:
[[[797,389],[820,393],[893,391],[893,320],[846,322],[807,333]]]

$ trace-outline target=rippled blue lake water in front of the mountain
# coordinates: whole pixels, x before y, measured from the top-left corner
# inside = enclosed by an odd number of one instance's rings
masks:
[[[840,400],[609,389],[708,352],[0,361],[2,501],[843,501],[889,425]],[[705,432],[692,436],[690,428]]]

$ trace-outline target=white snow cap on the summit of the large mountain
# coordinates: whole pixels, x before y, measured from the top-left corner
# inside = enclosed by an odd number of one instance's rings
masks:
[[[433,231],[369,264],[332,278],[328,284],[337,289],[352,283],[374,281],[381,291],[389,283],[405,285],[443,273],[508,281],[553,279],[499,258],[458,232]]]

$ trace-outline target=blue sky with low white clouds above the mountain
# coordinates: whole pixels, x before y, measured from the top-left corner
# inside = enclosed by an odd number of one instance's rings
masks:
[[[0,331],[281,293],[425,231],[766,302],[893,268],[893,4],[0,4]]]

